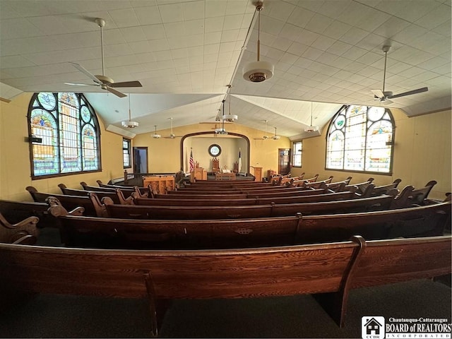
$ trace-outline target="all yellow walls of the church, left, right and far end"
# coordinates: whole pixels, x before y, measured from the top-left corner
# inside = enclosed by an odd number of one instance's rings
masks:
[[[31,98],[30,93],[23,93],[9,103],[0,101],[0,198],[17,201],[30,201],[25,191],[26,186],[35,186],[38,191],[59,193],[58,184],[63,183],[71,188],[80,189],[80,182],[96,184],[96,180],[108,182],[109,179],[124,175],[122,167],[122,137],[101,128],[102,172],[90,174],[75,174],[52,179],[31,180],[30,156],[28,143],[27,112]],[[303,166],[292,168],[292,174],[306,172],[306,177],[319,173],[319,179],[334,176],[333,181],[345,179],[349,175],[353,182],[362,182],[369,177],[375,178],[375,183],[382,185],[400,178],[400,188],[407,185],[422,187],[430,180],[436,180],[432,198],[444,198],[451,189],[451,111],[428,114],[420,117],[408,118],[403,112],[392,109],[396,120],[396,138],[394,145],[393,175],[376,175],[362,173],[347,173],[327,171],[325,167],[326,130],[319,137],[308,138],[303,141]],[[184,136],[187,133],[210,131],[213,125],[196,124],[174,128],[174,134]],[[290,148],[288,138],[279,141],[255,140],[263,136],[263,131],[251,129],[240,124],[227,124],[227,131],[244,134],[250,141],[250,172],[252,167],[262,167],[262,174],[266,176],[268,169],[278,169],[278,148]],[[213,131],[213,130],[212,130]],[[170,130],[158,131],[167,136]],[[149,172],[177,172],[180,170],[180,142],[181,138],[152,138],[153,133],[145,133],[133,138],[133,146],[148,147]],[[210,144],[210,141],[207,141]],[[206,145],[202,145],[203,155],[196,155],[195,160],[204,165],[209,159]],[[240,146],[241,147],[241,146]],[[225,152],[225,150],[223,150]],[[225,156],[225,155],[222,155]],[[198,158],[198,159],[197,159]],[[220,156],[221,159],[221,156]],[[242,154],[242,162],[246,155]],[[234,155],[220,160],[220,166],[232,167],[236,161]],[[209,162],[210,165],[210,162]],[[246,164],[244,164],[246,166]],[[244,172],[246,169],[242,169]]]

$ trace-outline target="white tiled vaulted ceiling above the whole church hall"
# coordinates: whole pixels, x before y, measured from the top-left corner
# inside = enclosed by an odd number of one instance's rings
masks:
[[[0,97],[83,92],[106,126],[139,122],[146,133],[237,114],[238,124],[309,136],[344,104],[403,109],[408,116],[451,107],[450,0],[264,0],[260,59],[275,66],[261,83],[242,77],[257,60],[256,3],[249,0],[0,0]],[[141,88],[92,83],[71,64]],[[374,100],[371,90],[394,94]],[[227,85],[232,84],[230,95]],[[229,105],[230,102],[230,105]],[[130,105],[130,106],[129,106]],[[220,110],[220,111],[219,111]]]

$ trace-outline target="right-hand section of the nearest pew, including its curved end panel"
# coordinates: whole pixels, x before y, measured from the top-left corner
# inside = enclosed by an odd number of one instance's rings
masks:
[[[340,327],[345,324],[347,299],[352,290],[403,281],[436,278],[451,274],[452,237],[424,237],[414,239],[388,239],[360,242],[360,249],[344,288],[344,293],[314,295],[319,304],[330,305],[333,300],[343,307],[326,311],[337,319]],[[333,313],[331,313],[333,311]],[[371,305],[369,311],[372,312]],[[340,312],[340,313],[339,313]]]

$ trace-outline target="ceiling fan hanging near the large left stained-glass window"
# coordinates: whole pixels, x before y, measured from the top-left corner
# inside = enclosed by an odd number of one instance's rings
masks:
[[[105,66],[104,66],[104,37],[103,37],[103,31],[102,28],[105,26],[105,20],[102,18],[96,18],[95,23],[100,27],[100,47],[102,51],[102,76],[100,75],[93,75],[85,69],[85,67],[81,66],[80,64],[76,64],[75,62],[69,62],[69,64],[72,64],[78,71],[81,71],[86,76],[91,78],[94,83],[66,83],[66,85],[76,85],[76,86],[100,86],[102,90],[107,90],[109,93],[113,93],[114,95],[117,95],[118,97],[126,97],[124,93],[119,92],[119,90],[115,90],[114,88],[118,87],[143,87],[139,81],[123,81],[121,83],[115,83],[112,78],[109,78],[108,76],[105,76]]]

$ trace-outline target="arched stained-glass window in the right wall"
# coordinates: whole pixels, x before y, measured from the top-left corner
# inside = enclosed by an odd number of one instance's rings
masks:
[[[391,174],[394,129],[389,109],[341,107],[328,126],[326,169]]]

